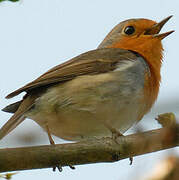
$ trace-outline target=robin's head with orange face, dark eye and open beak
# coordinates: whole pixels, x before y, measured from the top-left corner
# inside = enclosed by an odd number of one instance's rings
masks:
[[[146,61],[161,63],[163,51],[161,40],[174,31],[159,33],[171,17],[169,16],[159,23],[149,19],[123,21],[112,29],[98,48],[127,49],[137,52]]]

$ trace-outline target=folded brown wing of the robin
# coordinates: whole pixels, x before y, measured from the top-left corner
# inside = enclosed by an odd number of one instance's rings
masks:
[[[29,92],[39,87],[54,83],[62,83],[85,74],[98,74],[114,70],[116,64],[124,59],[136,59],[130,51],[119,48],[96,49],[81,54],[63,64],[55,66],[36,80],[10,93],[6,98],[12,98],[23,91]]]

